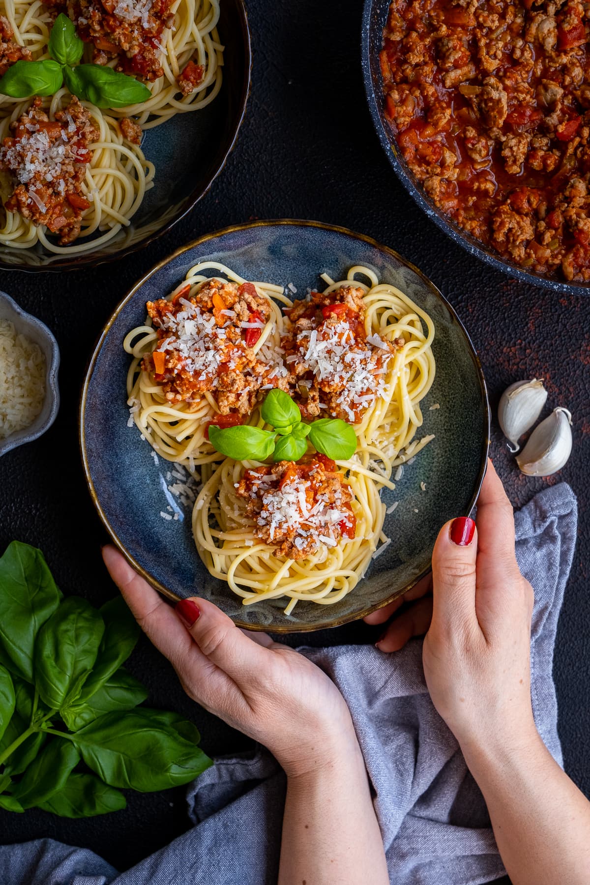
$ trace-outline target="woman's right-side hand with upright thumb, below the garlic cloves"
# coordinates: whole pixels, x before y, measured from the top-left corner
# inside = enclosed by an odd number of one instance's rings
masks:
[[[403,612],[378,648],[400,648],[410,635],[428,630],[423,651],[428,690],[466,755],[496,740],[514,747],[532,741],[533,589],[518,570],[512,507],[491,461],[477,527],[460,518],[441,528],[432,585],[432,599]],[[427,589],[423,583],[414,593]],[[367,620],[376,623],[380,615]]]

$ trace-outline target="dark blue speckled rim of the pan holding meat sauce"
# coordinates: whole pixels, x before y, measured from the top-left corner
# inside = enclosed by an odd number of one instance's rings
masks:
[[[586,295],[590,293],[590,287],[584,282],[563,282],[556,278],[546,277],[542,273],[525,271],[519,265],[513,264],[506,258],[501,258],[498,252],[484,243],[476,240],[459,227],[452,219],[426,196],[424,189],[410,172],[408,164],[397,147],[391,127],[384,112],[383,87],[381,72],[379,69],[379,52],[383,46],[383,28],[387,22],[387,12],[391,0],[364,0],[363,25],[362,25],[362,65],[364,89],[366,91],[371,112],[372,121],[379,135],[379,142],[387,154],[387,159],[394,168],[394,172],[402,182],[415,203],[418,204],[434,224],[447,234],[453,242],[463,246],[471,255],[480,258],[488,265],[493,266],[502,273],[508,273],[521,282],[533,283],[545,289],[555,289],[556,292],[565,292],[570,295]]]

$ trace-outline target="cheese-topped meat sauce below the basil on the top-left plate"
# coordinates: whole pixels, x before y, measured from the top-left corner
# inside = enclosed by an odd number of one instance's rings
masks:
[[[59,234],[65,246],[80,234],[82,215],[90,206],[82,194],[88,145],[98,133],[86,108],[73,97],[51,120],[41,98],[11,123],[11,137],[0,148],[0,169],[10,173],[14,190],[4,201],[9,212],[20,212],[35,225]]]

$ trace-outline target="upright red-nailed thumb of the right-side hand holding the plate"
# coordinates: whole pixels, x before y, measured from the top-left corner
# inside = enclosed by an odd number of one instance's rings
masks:
[[[433,550],[433,626],[476,626],[475,563],[478,534],[468,516],[446,523]]]

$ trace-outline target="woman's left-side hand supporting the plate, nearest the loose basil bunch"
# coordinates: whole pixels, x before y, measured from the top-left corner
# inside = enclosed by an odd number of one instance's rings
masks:
[[[294,776],[356,748],[349,709],[326,673],[264,633],[246,633],[206,599],[165,603],[114,547],[111,578],[182,687],[206,710],[263,743]]]

